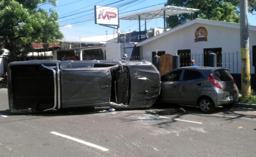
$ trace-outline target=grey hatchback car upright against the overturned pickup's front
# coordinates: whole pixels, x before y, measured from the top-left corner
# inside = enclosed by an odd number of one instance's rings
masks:
[[[233,107],[238,101],[236,82],[225,68],[180,67],[161,76],[159,103],[198,106],[204,113],[215,106]]]

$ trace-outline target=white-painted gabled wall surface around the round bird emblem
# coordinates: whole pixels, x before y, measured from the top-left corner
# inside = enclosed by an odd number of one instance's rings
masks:
[[[198,27],[204,27],[207,29],[207,42],[195,42],[195,31],[197,30]],[[195,23],[188,27],[184,27],[180,30],[174,31],[171,34],[165,36],[164,34],[165,33],[160,34],[162,35],[162,37],[152,40],[151,42],[145,43],[142,46],[140,46],[140,55],[142,55],[143,57],[151,56],[151,53],[155,50],[166,51],[166,53],[168,54],[175,55],[175,52],[177,52],[177,50],[185,49],[190,49],[191,55],[195,55],[202,54],[204,48],[222,48],[222,67],[224,67],[225,61],[223,55],[226,54],[226,56],[228,56],[229,53],[233,52],[240,53],[239,28],[228,28],[216,25]],[[256,45],[256,31],[249,31],[249,44],[250,52],[252,52],[252,46]],[[237,61],[236,55],[234,55],[234,57],[234,61]],[[203,63],[203,59],[196,60],[199,61],[198,64]],[[238,55],[238,61],[239,62],[237,64],[234,64],[234,69],[238,69],[238,73],[241,73],[240,54]],[[233,57],[230,57],[230,59],[226,57],[226,62],[233,62]],[[254,73],[252,59],[250,64],[251,73]]]

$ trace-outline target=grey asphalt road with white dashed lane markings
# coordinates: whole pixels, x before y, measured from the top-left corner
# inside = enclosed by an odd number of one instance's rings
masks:
[[[0,88],[0,157],[255,157],[256,109],[155,106],[12,115]],[[175,109],[173,109],[175,108]],[[180,111],[180,110],[179,110]]]

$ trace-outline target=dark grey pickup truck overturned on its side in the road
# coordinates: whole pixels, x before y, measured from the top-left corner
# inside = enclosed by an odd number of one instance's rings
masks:
[[[143,61],[11,62],[10,112],[73,107],[148,108],[160,94],[160,73]]]

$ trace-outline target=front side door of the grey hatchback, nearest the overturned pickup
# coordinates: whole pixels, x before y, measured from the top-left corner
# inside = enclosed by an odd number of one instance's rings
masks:
[[[175,70],[161,77],[160,102],[178,103],[182,70]]]

